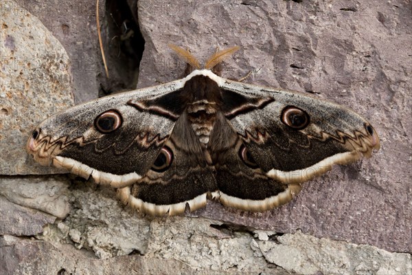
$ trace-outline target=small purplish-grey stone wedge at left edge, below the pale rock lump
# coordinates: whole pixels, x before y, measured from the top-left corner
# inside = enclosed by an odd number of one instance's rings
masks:
[[[0,235],[33,236],[43,232],[43,225],[56,217],[19,206],[0,196]]]

